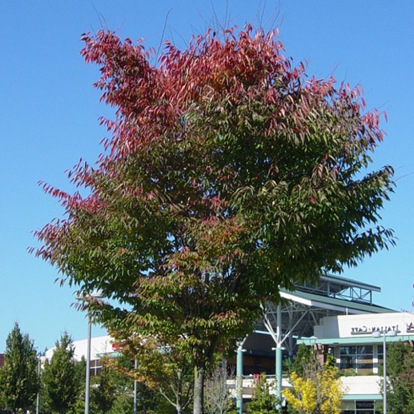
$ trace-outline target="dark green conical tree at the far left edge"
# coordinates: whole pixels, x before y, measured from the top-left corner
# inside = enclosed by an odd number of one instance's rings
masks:
[[[0,369],[0,395],[5,407],[16,412],[32,408],[39,391],[37,355],[28,334],[16,322],[6,339],[4,366]]]

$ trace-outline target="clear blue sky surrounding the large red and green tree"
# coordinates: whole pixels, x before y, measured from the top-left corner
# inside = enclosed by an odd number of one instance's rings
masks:
[[[233,24],[257,23],[265,2],[229,0]],[[397,188],[385,205],[383,224],[393,228],[397,246],[345,271],[344,277],[382,287],[376,302],[411,308],[414,299],[414,2],[267,0],[263,23],[276,25],[286,55],[307,59],[307,73],[361,83],[369,108],[388,114],[388,137],[374,154],[375,167],[391,164]],[[36,185],[44,180],[71,191],[64,171],[80,157],[93,162],[105,130],[99,115],[109,114],[91,86],[97,67],[79,56],[80,35],[101,22],[122,37],[160,44],[166,38],[184,45],[193,31],[203,32],[214,13],[225,15],[226,1],[134,0],[85,2],[4,0],[0,6],[0,352],[18,321],[39,350],[54,346],[64,330],[86,336],[84,315],[71,307],[73,289],[54,283],[56,271],[27,253],[31,231],[62,211]],[[102,334],[98,327],[94,334]]]

